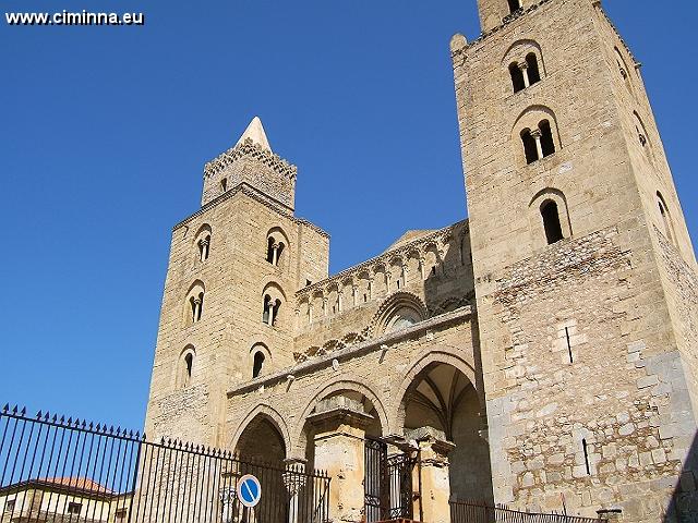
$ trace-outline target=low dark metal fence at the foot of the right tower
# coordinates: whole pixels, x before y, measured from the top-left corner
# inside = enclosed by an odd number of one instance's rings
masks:
[[[520,512],[505,506],[450,501],[450,523],[605,523],[604,520],[566,514]]]

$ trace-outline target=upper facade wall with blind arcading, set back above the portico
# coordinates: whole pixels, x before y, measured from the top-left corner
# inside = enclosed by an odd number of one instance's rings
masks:
[[[424,234],[298,291],[297,361],[380,335],[382,313],[400,300],[425,319],[469,304],[472,293],[467,222]]]

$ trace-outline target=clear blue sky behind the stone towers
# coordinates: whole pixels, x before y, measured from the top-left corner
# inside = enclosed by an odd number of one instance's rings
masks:
[[[604,4],[645,64],[696,240],[698,3]],[[448,41],[477,37],[476,0],[3,8],[146,24],[0,26],[2,403],[142,425],[171,227],[254,114],[299,166],[297,214],[332,234],[333,271],[466,216]]]

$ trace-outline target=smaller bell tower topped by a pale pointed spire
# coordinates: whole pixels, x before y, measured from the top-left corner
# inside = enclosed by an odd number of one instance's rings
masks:
[[[293,362],[294,294],[327,278],[329,238],[294,216],[296,166],[258,118],[204,167],[174,226],[146,434],[227,448],[227,392]]]

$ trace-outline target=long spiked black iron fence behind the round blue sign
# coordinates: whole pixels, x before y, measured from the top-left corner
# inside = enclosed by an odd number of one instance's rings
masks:
[[[253,474],[250,509],[238,481]],[[301,465],[147,441],[140,433],[5,406],[0,412],[0,523],[324,523],[329,477]]]

